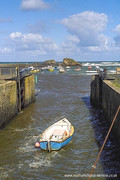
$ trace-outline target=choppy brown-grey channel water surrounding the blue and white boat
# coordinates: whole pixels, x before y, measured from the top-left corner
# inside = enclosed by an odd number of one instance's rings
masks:
[[[82,175],[90,173],[109,127],[90,104],[90,81],[86,75],[38,75],[36,102],[0,131],[0,179],[87,179]],[[63,117],[75,127],[72,141],[57,152],[35,149],[38,135]],[[119,167],[120,146],[111,133],[94,173],[106,179]]]

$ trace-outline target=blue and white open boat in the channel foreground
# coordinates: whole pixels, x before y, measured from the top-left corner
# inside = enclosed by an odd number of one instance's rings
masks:
[[[71,141],[73,133],[74,127],[66,118],[63,118],[41,134],[39,142],[35,143],[35,147],[49,152],[60,150]]]

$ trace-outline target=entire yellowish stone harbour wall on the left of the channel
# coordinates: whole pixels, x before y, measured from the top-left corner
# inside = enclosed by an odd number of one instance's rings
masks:
[[[0,80],[0,129],[6,126],[22,109],[35,101],[34,75],[11,77]]]

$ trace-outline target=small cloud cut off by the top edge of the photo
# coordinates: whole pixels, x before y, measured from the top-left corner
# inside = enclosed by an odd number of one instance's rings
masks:
[[[25,11],[29,10],[44,10],[50,7],[49,3],[43,0],[23,0],[21,4],[21,9]]]

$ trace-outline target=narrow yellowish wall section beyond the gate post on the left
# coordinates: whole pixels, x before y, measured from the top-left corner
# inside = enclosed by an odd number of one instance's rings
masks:
[[[35,101],[35,78],[34,75],[25,77],[25,102],[24,107]]]

